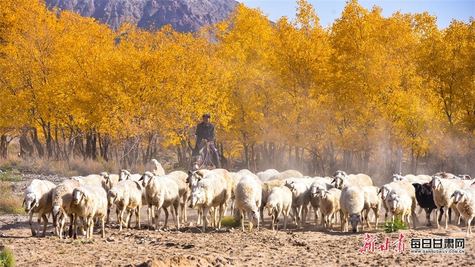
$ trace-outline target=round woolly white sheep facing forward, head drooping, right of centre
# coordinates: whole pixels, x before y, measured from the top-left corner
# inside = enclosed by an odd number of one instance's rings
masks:
[[[361,220],[361,212],[364,206],[365,194],[361,188],[354,185],[343,187],[340,196],[340,209],[343,213],[343,219],[341,220],[342,232],[348,232],[348,220],[351,223],[353,232],[358,232],[358,223],[361,223],[361,227],[364,229]]]

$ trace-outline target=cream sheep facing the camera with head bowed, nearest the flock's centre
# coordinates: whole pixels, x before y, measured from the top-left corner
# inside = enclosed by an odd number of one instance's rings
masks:
[[[284,230],[286,230],[287,217],[292,208],[292,192],[290,189],[285,185],[272,188],[267,197],[266,207],[271,217],[271,229],[275,229],[274,222],[277,221],[277,230],[279,230],[279,217],[284,214]]]

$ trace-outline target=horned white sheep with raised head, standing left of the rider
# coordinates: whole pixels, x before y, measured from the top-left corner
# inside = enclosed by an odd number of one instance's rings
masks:
[[[167,208],[173,206],[172,216],[174,216],[174,220],[177,222],[177,229],[179,229],[178,206],[180,205],[180,194],[178,184],[172,179],[154,176],[150,172],[143,173],[140,180],[142,180],[142,186],[145,188],[148,202],[148,221],[150,222],[153,205],[156,206],[157,209],[163,209],[165,212],[165,224],[163,229],[166,230],[168,224]],[[149,224],[148,227],[150,228],[150,226]],[[155,214],[155,230],[158,230],[158,213]]]

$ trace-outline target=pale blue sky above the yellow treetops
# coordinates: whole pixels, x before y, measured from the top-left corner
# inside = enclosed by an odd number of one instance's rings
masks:
[[[277,21],[282,16],[295,18],[297,13],[296,0],[238,0],[247,7],[259,7],[263,14],[267,14],[271,21]],[[320,18],[320,25],[324,28],[331,26],[336,18],[341,16],[346,5],[345,0],[307,0]],[[382,8],[384,17],[391,16],[396,11],[402,13],[423,13],[437,16],[437,26],[440,29],[450,25],[452,19],[469,22],[475,17],[475,0],[359,0],[364,8],[371,10],[374,5]]]

